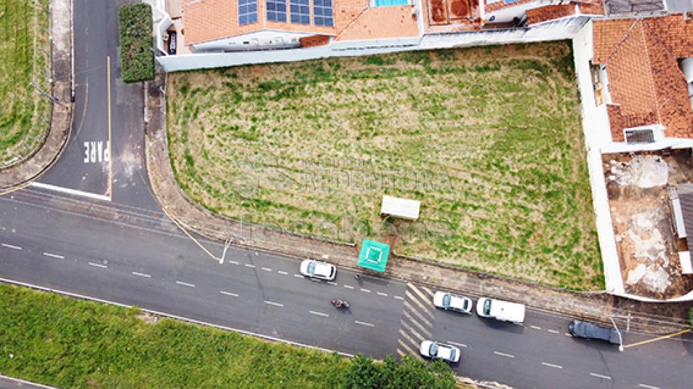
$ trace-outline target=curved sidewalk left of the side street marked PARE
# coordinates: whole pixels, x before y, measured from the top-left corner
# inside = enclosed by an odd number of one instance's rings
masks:
[[[21,163],[0,169],[0,194],[23,188],[48,170],[67,144],[72,128],[72,1],[51,0],[53,96],[51,128],[44,143]]]

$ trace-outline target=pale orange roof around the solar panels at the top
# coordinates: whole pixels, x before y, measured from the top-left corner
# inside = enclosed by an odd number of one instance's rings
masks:
[[[186,44],[211,42],[263,30],[332,35],[337,40],[419,35],[416,19],[412,17],[413,6],[369,7],[369,0],[333,0],[334,26],[315,26],[268,21],[266,1],[258,0],[258,21],[239,26],[238,0],[182,1]],[[312,5],[313,2],[310,3]],[[313,12],[312,6],[310,12]]]

